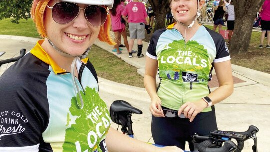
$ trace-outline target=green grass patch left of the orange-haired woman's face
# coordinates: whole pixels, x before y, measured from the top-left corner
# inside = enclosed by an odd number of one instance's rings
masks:
[[[19,24],[12,23],[10,20],[10,18],[0,20],[0,35],[40,38],[32,19],[21,19]]]

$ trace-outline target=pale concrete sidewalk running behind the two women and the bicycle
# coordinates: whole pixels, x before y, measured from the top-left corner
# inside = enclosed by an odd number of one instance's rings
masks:
[[[36,41],[36,38],[0,35],[0,45],[2,46],[0,51],[6,52],[0,59],[13,57],[15,54],[18,56],[21,48],[26,48],[29,51],[36,44]],[[143,42],[142,53],[144,57],[142,58],[137,58],[136,54],[133,58],[129,58],[126,48],[123,48],[122,54],[117,55],[111,51],[113,46],[100,41],[96,41],[95,44],[115,54],[128,64],[137,67],[138,73],[144,75],[147,42]],[[133,49],[136,50],[136,47],[135,40]],[[268,136],[270,136],[270,131],[267,130],[270,128],[270,74],[237,65],[232,65],[232,69],[235,82],[234,93],[215,105],[218,128],[220,130],[246,131],[249,125],[255,125],[259,128],[257,134],[258,150],[270,151],[266,143],[268,142]],[[211,82],[212,91],[217,87],[214,81],[213,78]],[[125,100],[139,108],[143,114],[133,114],[132,116],[135,136],[139,140],[153,143],[151,138],[151,113],[149,111],[150,98],[144,88],[120,84],[99,77],[99,94],[108,107],[114,100]],[[117,125],[112,124],[112,127],[117,128]],[[252,140],[245,142],[243,151],[252,151],[253,143]]]

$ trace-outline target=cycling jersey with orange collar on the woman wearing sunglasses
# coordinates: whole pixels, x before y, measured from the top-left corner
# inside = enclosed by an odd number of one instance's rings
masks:
[[[71,74],[42,49],[43,41],[0,77],[0,151],[107,151],[111,119],[94,67],[88,58],[77,61],[81,109]]]

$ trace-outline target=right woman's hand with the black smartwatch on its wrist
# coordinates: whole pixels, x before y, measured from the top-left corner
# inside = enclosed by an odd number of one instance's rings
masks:
[[[184,116],[189,118],[189,121],[192,122],[196,115],[207,106],[208,104],[203,99],[196,102],[186,102],[180,107],[178,114],[183,113]]]

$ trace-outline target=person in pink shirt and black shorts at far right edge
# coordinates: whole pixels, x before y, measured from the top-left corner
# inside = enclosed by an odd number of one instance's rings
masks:
[[[261,14],[261,37],[260,37],[260,45],[259,48],[263,48],[263,40],[264,36],[267,32],[268,38],[267,38],[267,45],[266,48],[270,49],[270,0],[265,0],[262,7],[259,10]]]

